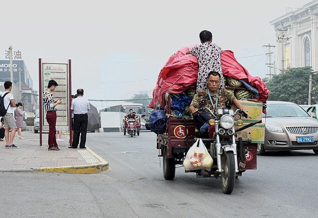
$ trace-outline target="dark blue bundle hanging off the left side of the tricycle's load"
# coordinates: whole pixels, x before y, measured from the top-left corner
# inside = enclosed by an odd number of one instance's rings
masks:
[[[150,130],[156,134],[165,133],[166,116],[164,110],[154,110],[150,114]]]

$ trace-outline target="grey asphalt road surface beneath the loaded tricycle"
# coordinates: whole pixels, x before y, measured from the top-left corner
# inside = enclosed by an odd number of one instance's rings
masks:
[[[109,162],[98,174],[0,172],[0,217],[50,218],[316,218],[318,155],[257,157],[225,195],[220,180],[177,168],[164,180],[156,135],[90,133],[87,146]]]

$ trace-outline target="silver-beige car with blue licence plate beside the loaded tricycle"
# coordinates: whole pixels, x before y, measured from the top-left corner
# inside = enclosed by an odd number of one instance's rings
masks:
[[[267,102],[265,142],[258,144],[257,154],[268,151],[310,150],[318,154],[318,120],[291,102]],[[265,116],[263,114],[263,116]]]

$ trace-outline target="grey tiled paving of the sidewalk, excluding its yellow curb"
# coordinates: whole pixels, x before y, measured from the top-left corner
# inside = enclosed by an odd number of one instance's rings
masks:
[[[69,149],[68,135],[62,135],[64,142],[58,142],[60,151],[48,151],[48,134],[43,134],[40,147],[39,134],[23,132],[24,139],[15,135],[13,143],[19,149],[6,149],[5,141],[0,142],[0,171],[30,170],[40,167],[78,166],[99,163],[86,149]]]

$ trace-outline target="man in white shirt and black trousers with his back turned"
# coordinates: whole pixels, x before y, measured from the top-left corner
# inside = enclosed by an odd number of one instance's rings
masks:
[[[77,90],[78,97],[72,101],[71,112],[74,112],[74,136],[72,146],[69,148],[79,148],[83,149],[86,143],[86,132],[88,115],[87,112],[90,109],[89,102],[83,98],[84,90]],[[80,136],[80,144],[79,144]]]

